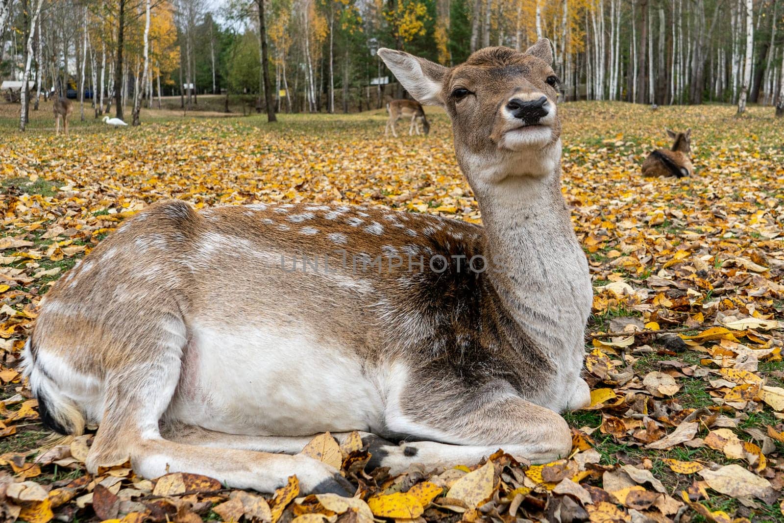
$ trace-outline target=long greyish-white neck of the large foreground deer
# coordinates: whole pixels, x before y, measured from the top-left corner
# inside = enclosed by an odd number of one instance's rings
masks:
[[[554,155],[550,161],[521,162],[515,167],[521,174],[475,188],[485,224],[485,257],[499,265],[487,277],[539,344],[553,352],[582,350],[590,278],[561,195],[560,143],[548,152]],[[537,168],[549,172],[525,172]]]

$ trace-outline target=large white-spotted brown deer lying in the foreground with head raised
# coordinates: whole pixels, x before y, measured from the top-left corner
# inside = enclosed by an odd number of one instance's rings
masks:
[[[550,42],[447,68],[379,55],[445,107],[484,227],[353,205],[197,212],[159,202],[45,296],[24,349],[45,423],[99,428],[87,467],[129,458],[271,492],[346,492],[295,455],[361,431],[370,466],[567,456],[558,414],[590,401],[592,292],[561,195]]]

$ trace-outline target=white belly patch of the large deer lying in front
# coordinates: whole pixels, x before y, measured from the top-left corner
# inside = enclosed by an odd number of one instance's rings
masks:
[[[350,348],[280,329],[192,332],[169,419],[230,434],[294,436],[368,430],[382,418],[372,369]]]

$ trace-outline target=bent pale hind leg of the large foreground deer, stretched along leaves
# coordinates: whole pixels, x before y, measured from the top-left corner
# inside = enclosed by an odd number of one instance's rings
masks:
[[[88,470],[94,473],[100,465],[130,458],[133,469],[144,478],[190,472],[233,488],[274,492],[296,474],[303,492],[345,496],[353,491],[337,470],[307,456],[224,448],[206,445],[203,440],[189,444],[165,439],[161,420],[180,381],[182,348],[187,343],[184,329],[176,332],[176,325],[172,325],[171,330],[172,338],[180,338],[180,343],[161,343],[154,361],[126,365],[107,376],[103,418],[89,452]]]

